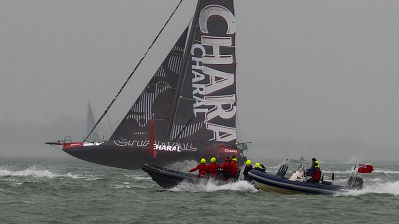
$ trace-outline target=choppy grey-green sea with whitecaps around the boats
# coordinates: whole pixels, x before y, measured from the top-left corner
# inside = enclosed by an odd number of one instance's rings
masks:
[[[281,165],[263,163],[272,173]],[[298,166],[289,165],[289,172]],[[372,174],[361,174],[363,190],[323,196],[268,193],[245,181],[165,190],[141,170],[73,157],[0,158],[0,223],[399,223],[399,166],[373,165]],[[321,161],[325,179],[334,172],[335,184],[346,182],[352,166]]]

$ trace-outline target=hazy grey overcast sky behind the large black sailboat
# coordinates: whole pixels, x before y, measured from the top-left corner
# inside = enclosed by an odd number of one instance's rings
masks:
[[[89,98],[97,119],[177,3],[0,1],[0,133],[85,120]],[[195,6],[184,0],[122,92],[110,110],[113,128]],[[236,0],[238,117],[251,150],[398,158],[398,12],[397,0]],[[69,135],[84,134],[77,132]]]

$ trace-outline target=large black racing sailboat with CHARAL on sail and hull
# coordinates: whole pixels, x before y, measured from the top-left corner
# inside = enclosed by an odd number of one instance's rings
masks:
[[[235,85],[233,1],[199,0],[191,24],[108,140],[46,143],[62,145],[82,160],[126,169],[231,155],[242,164]]]

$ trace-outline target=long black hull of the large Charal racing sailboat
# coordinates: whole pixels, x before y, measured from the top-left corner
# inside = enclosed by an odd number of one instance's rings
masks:
[[[112,142],[112,141],[111,141]],[[207,160],[211,156],[218,157],[218,161],[222,161],[225,157],[231,156],[232,153],[218,153],[214,150],[198,149],[197,151],[158,151],[154,158],[149,153],[147,147],[132,147],[112,145],[110,141],[101,145],[94,146],[70,146],[63,148],[66,153],[88,162],[101,164],[105,166],[123,168],[123,169],[140,169],[145,163],[152,163],[157,166],[166,166],[177,161],[183,160],[199,160],[205,157]],[[236,154],[238,164],[242,164],[239,154]]]

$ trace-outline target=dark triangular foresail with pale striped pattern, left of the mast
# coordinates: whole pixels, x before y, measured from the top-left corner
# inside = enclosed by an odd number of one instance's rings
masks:
[[[155,136],[167,138],[168,120],[174,101],[188,28],[129,109],[111,136],[114,139],[148,139],[149,123],[154,119]]]

